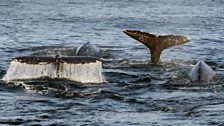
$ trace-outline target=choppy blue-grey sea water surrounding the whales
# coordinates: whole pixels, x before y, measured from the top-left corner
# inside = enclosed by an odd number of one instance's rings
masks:
[[[166,49],[158,66],[122,33],[136,29],[191,41]],[[1,0],[0,77],[34,48],[78,47],[103,54],[103,84],[0,81],[2,125],[224,125],[222,0]],[[68,50],[69,51],[69,50]],[[72,52],[70,52],[72,53]],[[204,60],[210,83],[187,79]],[[22,73],[21,73],[22,74]]]

